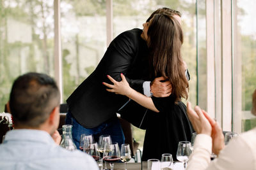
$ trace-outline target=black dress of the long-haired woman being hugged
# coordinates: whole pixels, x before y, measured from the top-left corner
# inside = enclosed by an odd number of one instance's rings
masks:
[[[150,114],[143,145],[142,160],[159,159],[163,153],[171,153],[173,160],[179,141],[191,141],[194,132],[189,122],[186,106],[175,104],[174,96],[152,97],[159,113]]]

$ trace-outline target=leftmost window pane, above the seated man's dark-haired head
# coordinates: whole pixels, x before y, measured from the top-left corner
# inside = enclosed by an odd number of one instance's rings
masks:
[[[0,112],[13,80],[29,71],[54,75],[53,1],[0,3]]]

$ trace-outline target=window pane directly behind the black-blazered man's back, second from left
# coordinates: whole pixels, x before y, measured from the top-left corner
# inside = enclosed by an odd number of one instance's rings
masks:
[[[106,1],[61,1],[61,41],[66,101],[106,51]]]

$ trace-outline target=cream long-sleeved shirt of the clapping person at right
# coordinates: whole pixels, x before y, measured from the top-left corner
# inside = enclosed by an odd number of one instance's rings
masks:
[[[232,139],[218,158],[211,161],[212,138],[198,134],[193,153],[189,157],[189,170],[255,170],[256,169],[256,128]]]

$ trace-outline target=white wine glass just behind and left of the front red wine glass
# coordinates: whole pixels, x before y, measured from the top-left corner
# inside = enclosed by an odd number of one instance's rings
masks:
[[[99,152],[101,154],[103,153],[108,153],[110,152],[110,145],[112,144],[112,140],[111,140],[111,137],[110,135],[101,135],[99,137]],[[102,156],[102,158],[104,157],[104,155]],[[106,162],[105,162],[105,167],[104,169],[107,169],[107,165],[106,165]]]

